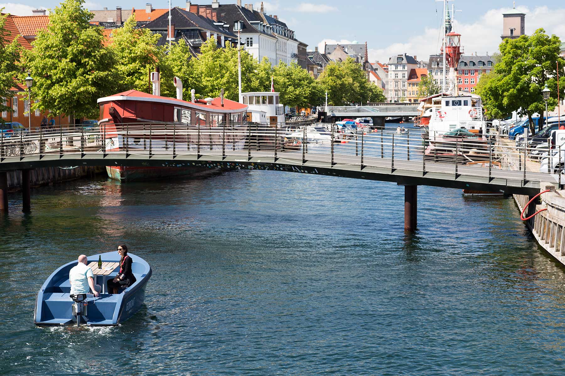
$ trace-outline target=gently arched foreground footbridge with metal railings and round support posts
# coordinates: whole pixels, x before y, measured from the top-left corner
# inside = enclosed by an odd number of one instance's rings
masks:
[[[23,171],[24,208],[29,169],[50,166],[203,166],[380,180],[413,187],[414,197],[406,200],[414,207],[417,185],[527,195],[540,192],[542,184],[560,187],[560,174],[528,171],[528,151],[497,139],[431,139],[435,147],[424,147],[415,129],[346,133],[320,123],[288,130],[180,123],[61,127],[0,138],[0,171]],[[6,192],[6,173],[0,172],[5,209]]]

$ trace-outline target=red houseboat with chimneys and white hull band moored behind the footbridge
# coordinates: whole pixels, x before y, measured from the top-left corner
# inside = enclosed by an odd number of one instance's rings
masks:
[[[106,140],[107,151],[129,153],[151,148],[153,153],[166,153],[175,143],[177,151],[193,150],[197,142],[208,142],[210,148],[221,148],[223,142],[241,147],[247,129],[247,105],[219,98],[182,100],[182,83],[175,77],[177,98],[160,96],[159,74],[151,73],[153,93],[128,90],[99,98],[99,126]],[[229,128],[229,140],[222,140],[218,127]],[[173,135],[173,129],[175,134]],[[197,140],[199,130],[206,140]],[[152,132],[151,136],[148,134]],[[225,134],[225,133],[224,133]],[[237,137],[236,135],[241,135]],[[131,181],[180,175],[204,174],[204,167],[119,167],[107,166],[108,176]]]

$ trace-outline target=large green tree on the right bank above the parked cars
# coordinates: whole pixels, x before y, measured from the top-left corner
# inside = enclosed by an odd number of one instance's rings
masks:
[[[557,105],[558,62],[560,96],[565,91],[565,60],[559,56],[560,46],[559,38],[547,36],[544,29],[537,29],[531,36],[505,39],[499,46],[501,54],[494,74],[479,81],[478,93],[488,115],[504,118],[518,110],[529,118],[534,131],[532,115],[545,112],[541,90],[546,84],[551,90],[547,107],[553,110]]]

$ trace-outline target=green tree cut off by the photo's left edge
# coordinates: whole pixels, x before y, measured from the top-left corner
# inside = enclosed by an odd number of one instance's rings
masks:
[[[17,36],[12,36],[10,30],[6,29],[7,16],[2,14],[3,10],[4,8],[0,9],[0,38],[5,41],[0,45],[0,98],[6,98],[8,104],[10,104],[14,96],[14,92],[10,89],[14,87],[14,78],[18,77],[20,73],[18,63],[21,45],[18,43]],[[5,105],[4,100],[0,100],[0,110],[11,112],[12,107]],[[2,118],[0,118],[0,122],[3,122]]]

